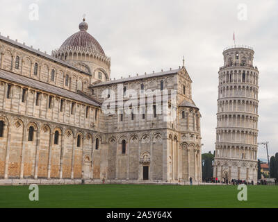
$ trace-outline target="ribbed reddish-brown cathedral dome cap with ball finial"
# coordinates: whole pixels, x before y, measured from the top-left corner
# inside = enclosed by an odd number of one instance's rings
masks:
[[[65,42],[60,46],[60,50],[64,51],[67,49],[80,49],[81,51],[93,51],[104,55],[104,50],[97,40],[95,40],[92,35],[87,33],[88,24],[83,19],[83,22],[79,24],[79,32],[74,33],[65,40]]]

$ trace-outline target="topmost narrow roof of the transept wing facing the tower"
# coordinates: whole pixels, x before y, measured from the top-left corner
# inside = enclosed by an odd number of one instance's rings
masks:
[[[158,77],[158,76],[165,76],[165,75],[169,75],[169,74],[177,74],[177,72],[179,70],[181,70],[181,69],[172,69],[172,70],[168,70],[168,71],[156,72],[156,73],[153,73],[153,74],[132,76],[132,77],[129,77],[129,78],[120,78],[120,79],[110,80],[110,81],[103,82],[103,83],[97,83],[95,85],[91,85],[91,87],[98,87],[98,86],[102,86],[102,85],[110,85],[110,84],[115,84],[115,83],[124,83],[124,82],[132,81],[132,80],[139,80],[139,79],[143,79],[143,78],[152,78],[152,77]]]

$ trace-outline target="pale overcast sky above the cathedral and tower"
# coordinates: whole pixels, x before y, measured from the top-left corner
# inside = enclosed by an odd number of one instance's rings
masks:
[[[203,153],[215,148],[218,70],[235,32],[236,44],[254,48],[260,71],[258,141],[270,142],[271,155],[278,152],[278,1],[0,2],[1,35],[47,53],[79,31],[85,14],[88,32],[111,57],[111,78],[177,68],[185,56],[202,113]],[[266,159],[263,146],[258,156]]]

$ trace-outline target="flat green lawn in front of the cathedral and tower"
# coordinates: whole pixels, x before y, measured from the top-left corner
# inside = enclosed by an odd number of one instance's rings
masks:
[[[0,207],[278,207],[278,186],[40,185],[39,201],[28,186],[0,186]]]

